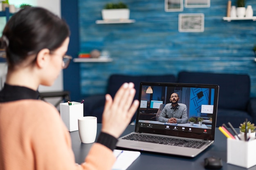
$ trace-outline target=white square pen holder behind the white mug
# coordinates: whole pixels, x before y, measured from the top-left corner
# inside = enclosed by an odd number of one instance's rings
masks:
[[[83,103],[71,102],[60,104],[61,119],[67,126],[68,131],[73,132],[78,130],[78,118],[83,117]]]

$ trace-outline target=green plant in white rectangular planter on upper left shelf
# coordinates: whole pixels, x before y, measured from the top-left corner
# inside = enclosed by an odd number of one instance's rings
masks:
[[[128,20],[130,18],[130,9],[123,2],[107,3],[101,10],[103,20]]]

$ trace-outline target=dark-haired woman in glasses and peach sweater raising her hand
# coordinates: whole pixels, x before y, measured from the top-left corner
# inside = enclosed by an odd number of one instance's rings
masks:
[[[123,84],[113,100],[106,95],[101,133],[81,165],[58,110],[38,100],[38,86],[51,86],[69,64],[69,36],[67,24],[43,8],[22,9],[6,24],[0,39],[8,63],[0,92],[1,170],[106,170],[114,164],[117,138],[139,106],[132,102],[132,83]]]

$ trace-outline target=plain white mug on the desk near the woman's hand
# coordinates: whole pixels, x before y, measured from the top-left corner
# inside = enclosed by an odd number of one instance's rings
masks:
[[[93,143],[97,135],[97,117],[85,116],[78,118],[78,132],[82,143]]]

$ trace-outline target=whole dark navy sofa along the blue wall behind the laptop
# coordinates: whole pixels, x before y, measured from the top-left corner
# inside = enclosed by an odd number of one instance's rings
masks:
[[[124,82],[133,82],[139,91],[140,82],[179,82],[198,84],[218,84],[220,86],[216,127],[231,122],[238,128],[247,118],[256,122],[256,98],[250,97],[250,77],[241,74],[220,74],[182,71],[174,75],[111,75],[108,79],[106,93],[112,97]],[[135,99],[139,94],[136,92]],[[96,116],[101,123],[105,95],[94,95],[85,98],[84,116]],[[132,121],[135,120],[135,116]]]

